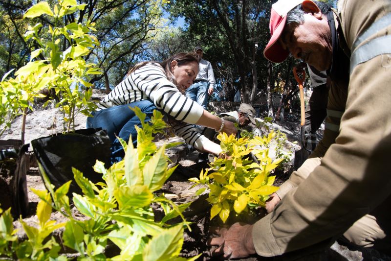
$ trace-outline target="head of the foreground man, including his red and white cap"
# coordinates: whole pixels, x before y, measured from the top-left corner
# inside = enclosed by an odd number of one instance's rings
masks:
[[[289,52],[319,71],[331,66],[331,32],[326,14],[330,6],[311,0],[279,0],[272,5],[271,39],[264,56],[280,63]]]

